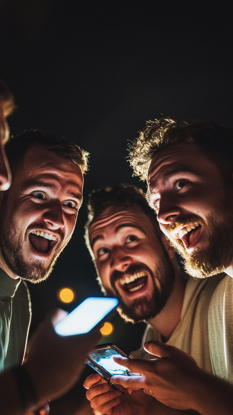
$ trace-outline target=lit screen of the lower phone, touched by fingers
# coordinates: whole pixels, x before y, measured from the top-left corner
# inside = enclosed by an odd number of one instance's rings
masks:
[[[141,376],[139,373],[134,373],[129,371],[129,369],[124,368],[115,363],[112,359],[112,356],[120,356],[114,349],[100,349],[95,350],[94,352],[89,353],[89,356],[92,360],[99,364],[103,369],[107,370],[112,376],[114,375],[123,375],[123,376]]]

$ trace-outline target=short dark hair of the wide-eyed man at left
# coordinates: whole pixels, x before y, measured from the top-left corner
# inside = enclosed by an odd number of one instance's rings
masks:
[[[52,134],[47,134],[40,130],[25,131],[15,137],[11,137],[6,144],[6,154],[9,160],[12,174],[22,164],[27,151],[33,146],[43,146],[70,164],[77,164],[82,174],[87,171],[88,153],[74,143]]]

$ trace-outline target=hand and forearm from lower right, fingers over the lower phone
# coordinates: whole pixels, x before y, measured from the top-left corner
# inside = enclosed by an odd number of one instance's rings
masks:
[[[148,361],[114,358],[142,376],[113,376],[125,388],[144,388],[171,408],[192,409],[202,415],[232,415],[233,386],[201,370],[195,360],[173,346],[147,342],[144,348],[161,359]]]

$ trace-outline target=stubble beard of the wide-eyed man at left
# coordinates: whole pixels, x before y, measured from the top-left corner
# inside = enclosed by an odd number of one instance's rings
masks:
[[[45,261],[40,261],[39,259],[35,260],[32,265],[29,265],[23,259],[23,244],[26,242],[27,237],[25,236],[24,238],[22,236],[17,224],[14,224],[12,218],[7,217],[6,211],[6,206],[2,205],[0,209],[0,255],[2,260],[15,276],[19,276],[23,280],[33,283],[46,280],[68,241],[62,246],[61,238],[60,242],[57,243],[54,256],[48,266],[44,265]],[[39,224],[34,225],[38,226]],[[41,225],[38,227],[41,227]]]

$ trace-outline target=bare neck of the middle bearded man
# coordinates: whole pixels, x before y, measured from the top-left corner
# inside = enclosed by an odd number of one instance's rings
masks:
[[[176,259],[172,263],[175,271],[174,289],[161,312],[148,320],[148,323],[160,332],[165,341],[169,339],[181,318],[186,286],[186,281],[181,275]]]

